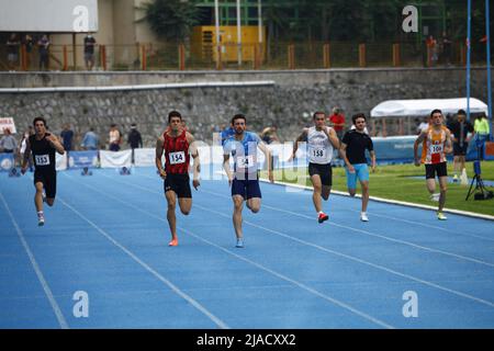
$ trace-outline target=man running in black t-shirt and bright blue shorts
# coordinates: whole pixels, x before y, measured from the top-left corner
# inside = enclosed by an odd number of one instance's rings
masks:
[[[369,203],[369,169],[366,159],[366,149],[369,150],[372,160],[372,172],[375,170],[375,152],[372,139],[366,131],[367,118],[363,113],[351,117],[355,129],[345,133],[341,139],[340,155],[346,165],[347,186],[350,196],[355,196],[357,178],[362,186],[362,212],[360,220],[368,222],[367,204]]]

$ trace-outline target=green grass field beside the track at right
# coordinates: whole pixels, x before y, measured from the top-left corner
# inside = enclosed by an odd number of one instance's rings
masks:
[[[494,181],[494,161],[483,161],[481,167],[482,179],[485,181]],[[468,162],[467,173],[469,176],[469,185],[464,186],[459,183],[448,184],[446,207],[494,216],[494,199],[475,201],[473,200],[472,194],[468,201],[464,200],[473,177],[472,162]],[[448,163],[448,174],[453,174],[452,162]],[[262,172],[261,176],[262,178],[267,178],[266,172]],[[437,206],[437,202],[429,201],[425,179],[411,178],[416,176],[425,176],[424,166],[415,167],[414,165],[398,165],[378,167],[374,173],[370,173],[370,195]],[[301,185],[311,185],[311,180],[308,179],[305,168],[297,171],[288,169],[276,170],[274,180],[297,183]],[[439,184],[437,184],[437,186],[438,190]],[[494,191],[493,186],[486,188],[487,190]],[[346,176],[343,168],[333,169],[333,190],[347,191]]]

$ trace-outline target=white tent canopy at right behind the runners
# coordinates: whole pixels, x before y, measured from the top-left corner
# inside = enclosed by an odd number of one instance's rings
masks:
[[[424,99],[424,100],[388,100],[371,110],[371,117],[424,117],[435,109],[442,114],[454,114],[458,110],[467,111],[467,98],[459,99]],[[470,113],[484,112],[489,115],[487,105],[478,99],[470,98]]]

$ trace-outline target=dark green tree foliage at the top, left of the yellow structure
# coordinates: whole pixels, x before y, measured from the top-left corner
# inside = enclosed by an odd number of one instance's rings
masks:
[[[181,43],[190,35],[191,29],[199,23],[199,10],[194,1],[154,0],[139,9],[151,31],[159,37]]]

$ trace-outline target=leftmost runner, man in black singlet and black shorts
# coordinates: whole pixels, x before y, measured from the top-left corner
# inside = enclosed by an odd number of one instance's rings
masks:
[[[45,118],[34,118],[33,125],[35,134],[27,138],[21,172],[22,174],[26,172],[29,159],[31,154],[33,154],[34,186],[36,188],[34,204],[37,212],[37,225],[43,226],[45,224],[43,202],[46,202],[48,206],[53,206],[57,191],[55,151],[64,155],[65,149],[54,134],[46,132]],[[43,190],[46,193],[46,199],[44,199]]]

